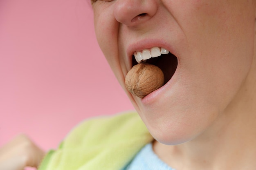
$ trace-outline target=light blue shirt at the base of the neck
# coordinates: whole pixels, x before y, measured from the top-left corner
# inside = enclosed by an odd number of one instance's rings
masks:
[[[142,148],[135,158],[123,170],[175,170],[164,163],[155,154],[152,144]]]

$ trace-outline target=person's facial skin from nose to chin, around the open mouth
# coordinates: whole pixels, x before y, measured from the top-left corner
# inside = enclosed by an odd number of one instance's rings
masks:
[[[253,60],[255,0],[98,0],[92,6],[101,50],[158,141],[180,144],[202,134],[242,88]],[[155,46],[175,55],[161,59],[171,79],[141,99],[125,89],[125,76],[132,54]]]

